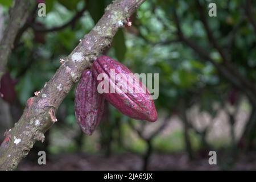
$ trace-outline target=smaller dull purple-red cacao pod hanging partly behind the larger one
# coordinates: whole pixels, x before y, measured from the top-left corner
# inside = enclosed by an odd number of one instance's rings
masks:
[[[75,94],[76,120],[85,134],[92,135],[101,121],[103,111],[104,97],[97,92],[97,82],[92,72],[86,69]]]

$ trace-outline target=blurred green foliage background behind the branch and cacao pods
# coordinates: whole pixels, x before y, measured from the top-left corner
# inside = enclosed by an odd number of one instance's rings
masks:
[[[112,1],[42,2],[47,16],[37,16],[37,6],[31,12],[1,80],[1,136]],[[208,16],[210,2],[217,17]],[[12,3],[0,1],[2,26]],[[144,2],[104,54],[135,73],[159,73],[158,121],[135,121],[106,103],[97,131],[85,136],[74,88],[19,169],[256,169],[255,7],[250,0]],[[37,165],[39,150],[47,151],[46,166]]]

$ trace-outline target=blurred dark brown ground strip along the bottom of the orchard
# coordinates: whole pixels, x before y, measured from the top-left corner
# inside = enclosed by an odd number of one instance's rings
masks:
[[[255,152],[254,152],[255,153]],[[139,170],[142,160],[135,154],[113,155],[110,158],[85,154],[65,154],[52,157],[46,165],[39,166],[36,162],[23,162],[19,170]],[[218,170],[220,166],[209,165],[208,159],[189,161],[185,154],[154,154],[150,170]],[[256,169],[256,155],[244,155],[238,159],[232,169]]]

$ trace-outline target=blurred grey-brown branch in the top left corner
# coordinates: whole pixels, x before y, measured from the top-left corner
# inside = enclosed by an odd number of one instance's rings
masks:
[[[5,67],[10,56],[11,49],[13,49],[15,37],[18,34],[19,28],[27,20],[31,5],[31,0],[16,0],[14,7],[10,11],[9,23],[5,28],[5,32],[3,32],[3,38],[0,43],[0,80],[2,75],[5,73]]]

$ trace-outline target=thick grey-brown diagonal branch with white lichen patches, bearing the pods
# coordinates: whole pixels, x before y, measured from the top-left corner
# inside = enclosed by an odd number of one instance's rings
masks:
[[[65,58],[55,75],[44,85],[39,96],[27,101],[22,117],[6,133],[0,147],[0,169],[15,169],[27,156],[36,140],[44,140],[44,133],[56,122],[55,112],[82,71],[89,68],[100,53],[110,45],[119,27],[144,0],[116,0],[105,9],[96,26]]]

